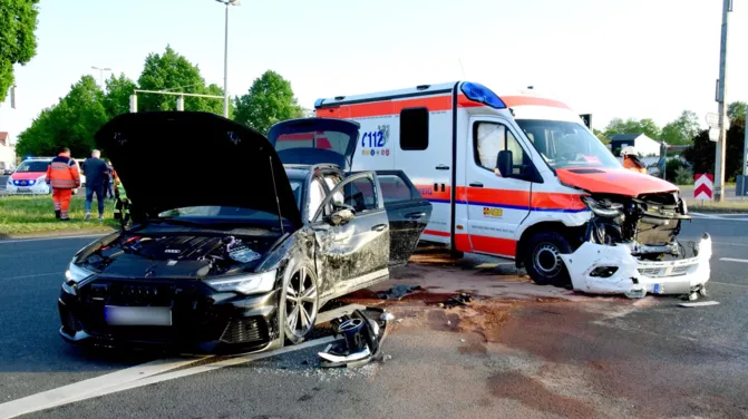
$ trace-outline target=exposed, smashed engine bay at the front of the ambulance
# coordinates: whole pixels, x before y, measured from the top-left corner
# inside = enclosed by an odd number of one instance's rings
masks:
[[[592,195],[583,197],[593,215],[584,233],[585,242],[603,245],[626,244],[631,254],[644,259],[682,256],[676,240],[686,215],[686,203],[678,193],[629,197]]]

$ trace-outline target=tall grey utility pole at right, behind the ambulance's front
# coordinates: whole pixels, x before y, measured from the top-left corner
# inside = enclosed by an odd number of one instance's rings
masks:
[[[727,130],[725,120],[727,119],[727,106],[725,104],[725,92],[727,90],[727,21],[732,11],[732,0],[722,0],[722,36],[719,47],[719,80],[717,86],[717,113],[719,115],[719,140],[717,142],[717,153],[715,154],[715,202],[722,202],[725,187],[725,153],[727,150]]]

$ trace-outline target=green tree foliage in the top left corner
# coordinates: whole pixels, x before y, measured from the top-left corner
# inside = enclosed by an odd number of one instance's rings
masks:
[[[28,64],[37,53],[39,0],[0,1],[0,101],[13,85],[13,65]]]

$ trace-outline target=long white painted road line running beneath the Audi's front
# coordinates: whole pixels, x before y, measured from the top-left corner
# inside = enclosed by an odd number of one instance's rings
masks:
[[[172,366],[169,368],[162,368],[161,371],[130,371],[134,369],[140,369],[148,364],[143,364],[139,367],[128,368],[127,370],[118,371],[113,374],[97,377],[90,380],[85,380],[77,382],[75,384],[60,387],[59,389],[41,392],[38,394],[29,396],[23,399],[9,401],[7,403],[0,405],[0,418],[9,419],[14,418],[20,415],[27,415],[35,411],[46,410],[62,405],[74,403],[77,401],[82,401],[87,399],[93,399],[96,397],[101,397],[106,394],[111,394],[119,391],[132,390],[143,386],[155,384],[162,381],[174,380],[177,378],[188,377],[202,372],[215,371],[225,367],[234,367],[264,358],[275,357],[288,352],[299,351],[302,349],[308,349],[311,347],[317,347],[326,343],[330,343],[338,340],[333,337],[327,337],[321,339],[311,340],[301,344],[284,347],[269,352],[252,353],[247,355],[241,355],[236,358],[226,359],[215,363],[206,366],[197,366],[193,368],[187,368],[179,371],[166,372],[173,370],[181,366]],[[200,361],[201,358],[191,359],[188,361],[182,361],[182,366]],[[158,362],[158,361],[154,361]],[[149,363],[154,363],[149,362]],[[123,376],[122,379],[117,382],[111,382],[110,376],[120,374],[127,372]],[[137,372],[137,373],[135,373]],[[77,387],[72,390],[65,390],[71,387]],[[62,391],[61,391],[62,390]],[[77,392],[76,392],[77,390]],[[82,390],[82,391],[81,391]],[[49,394],[51,393],[51,394]],[[51,397],[50,397],[51,396]]]

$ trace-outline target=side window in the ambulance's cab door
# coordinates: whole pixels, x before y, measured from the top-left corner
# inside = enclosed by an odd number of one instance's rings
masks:
[[[498,123],[476,123],[473,136],[475,163],[478,166],[494,172],[498,152],[503,150],[512,152],[512,164],[522,166],[525,159],[525,152],[506,125]],[[514,174],[519,175],[521,170],[521,167],[515,167]]]

